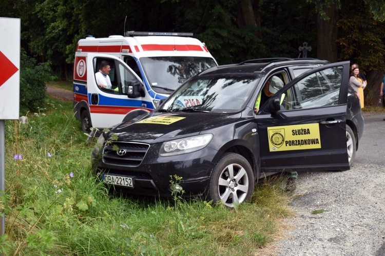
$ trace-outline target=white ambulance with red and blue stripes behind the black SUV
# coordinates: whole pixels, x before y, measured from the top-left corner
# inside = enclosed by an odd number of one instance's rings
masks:
[[[187,79],[218,66],[205,45],[191,36],[129,31],[125,36],[80,39],[73,68],[73,108],[82,130],[104,129],[149,113]],[[111,69],[110,89],[95,80],[102,61]]]

